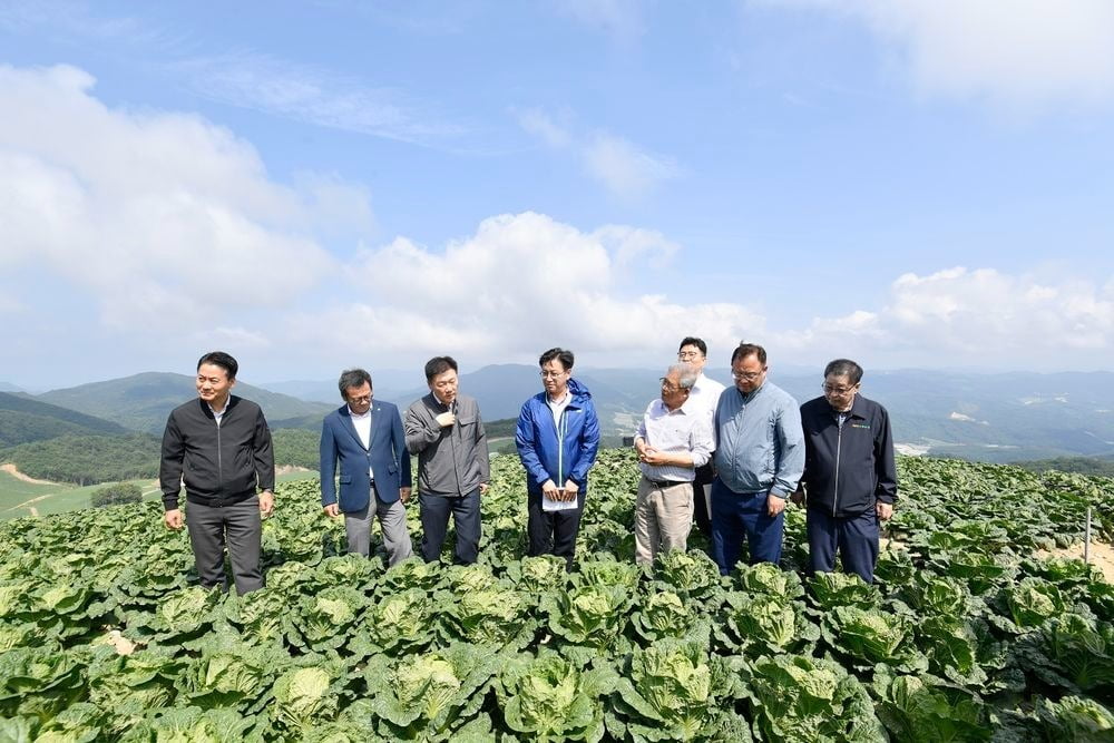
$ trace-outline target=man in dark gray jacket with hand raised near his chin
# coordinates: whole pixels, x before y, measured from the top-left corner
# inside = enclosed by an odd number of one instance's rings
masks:
[[[452,514],[456,558],[471,565],[480,547],[480,495],[491,479],[487,433],[476,400],[458,394],[457,362],[434,356],[426,364],[429,394],[407,410],[407,449],[418,454],[421,555],[441,556]]]

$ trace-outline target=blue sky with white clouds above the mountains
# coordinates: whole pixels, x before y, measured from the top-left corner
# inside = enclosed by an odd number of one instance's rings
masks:
[[[0,381],[1114,366],[1114,3],[4,3]]]

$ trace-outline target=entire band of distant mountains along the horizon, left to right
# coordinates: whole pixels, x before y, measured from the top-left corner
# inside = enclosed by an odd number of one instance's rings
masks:
[[[605,433],[629,436],[658,395],[663,370],[585,369],[576,377],[592,391]],[[774,369],[770,379],[801,402],[820,394],[819,371],[790,371]],[[709,374],[730,380],[725,369]],[[428,392],[414,377],[377,373],[375,397],[405,408]],[[421,380],[420,371],[417,377]],[[496,364],[461,375],[461,391],[479,401],[487,421],[516,418],[540,389],[534,365]],[[334,381],[276,382],[267,389],[238,382],[235,392],[258,402],[275,429],[317,430],[340,404]],[[985,461],[1114,457],[1114,373],[868,372],[863,393],[890,410],[895,438],[906,452]],[[162,372],[40,395],[0,393],[0,448],[65,434],[159,434],[169,411],[195,394],[192,377]]]

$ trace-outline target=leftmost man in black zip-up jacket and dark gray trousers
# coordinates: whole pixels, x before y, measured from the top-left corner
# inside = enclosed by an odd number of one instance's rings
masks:
[[[260,519],[274,508],[275,460],[263,411],[231,394],[237,370],[223,351],[197,362],[197,400],[170,412],[158,478],[163,520],[170,529],[188,526],[202,585],[224,586],[227,546],[236,593],[244,595],[263,587]],[[178,508],[183,480],[188,519]]]

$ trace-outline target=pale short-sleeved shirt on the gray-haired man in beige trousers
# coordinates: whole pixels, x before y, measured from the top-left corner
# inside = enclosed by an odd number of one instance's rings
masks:
[[[637,438],[658,451],[684,451],[692,454],[692,467],[658,467],[639,462],[642,473],[657,481],[692,482],[696,475],[695,468],[711,459],[714,446],[712,426],[706,420],[704,410],[693,405],[691,401],[671,411],[661,399],[654,400],[642,417]]]

